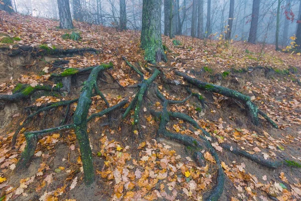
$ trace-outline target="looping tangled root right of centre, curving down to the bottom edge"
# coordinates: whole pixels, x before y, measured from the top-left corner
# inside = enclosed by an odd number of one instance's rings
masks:
[[[196,140],[195,138],[190,137],[188,135],[175,134],[175,133],[171,133],[166,130],[166,126],[167,126],[167,123],[170,121],[170,117],[174,117],[174,118],[179,118],[179,119],[185,120],[185,121],[191,123],[197,129],[201,129],[203,132],[206,132],[197,124],[196,121],[194,121],[188,115],[185,115],[183,113],[173,113],[173,112],[169,112],[167,110],[168,104],[184,103],[191,97],[192,93],[187,98],[185,98],[184,100],[180,100],[180,101],[168,100],[158,90],[158,88],[157,88],[156,94],[163,102],[163,111],[161,113],[150,110],[150,112],[153,115],[155,115],[156,117],[160,117],[160,124],[159,124],[159,129],[157,132],[157,137],[162,136],[165,138],[169,138],[169,139],[181,142],[182,144],[184,144],[186,146],[195,147],[196,148],[196,151],[195,151],[196,160],[199,164],[202,164],[203,157],[202,157],[202,154],[198,151],[198,149],[203,149],[203,148],[202,148],[201,143],[198,140]],[[217,167],[218,167],[216,186],[212,189],[209,196],[205,200],[206,201],[209,201],[209,200],[217,201],[219,199],[219,197],[221,196],[221,194],[223,193],[223,189],[224,189],[224,180],[225,180],[224,171],[221,166],[221,161],[219,160],[219,157],[218,157],[215,149],[212,147],[211,143],[203,136],[200,136],[200,138],[205,141],[205,146],[209,150],[209,152],[213,155],[213,157],[215,158]]]

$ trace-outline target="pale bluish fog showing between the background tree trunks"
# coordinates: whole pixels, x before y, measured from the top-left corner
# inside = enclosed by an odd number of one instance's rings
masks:
[[[71,14],[73,13],[73,2],[70,0]],[[127,0],[126,22],[127,28],[132,30],[141,29],[142,0]],[[184,4],[186,3],[186,6]],[[24,15],[35,17],[58,19],[58,5],[55,0],[13,0],[17,11]],[[182,34],[191,35],[192,26],[192,0],[179,1],[180,19],[183,22]],[[206,30],[207,1],[203,1],[203,30]],[[235,1],[234,18],[231,38],[233,40],[247,40],[252,17],[252,0]],[[277,0],[260,1],[259,19],[257,28],[257,41],[264,43],[275,43]],[[211,1],[211,33],[213,39],[223,33],[226,29],[229,16],[230,0]],[[102,24],[104,26],[119,26],[119,0],[81,0],[84,21],[89,24]],[[289,44],[289,37],[296,33],[297,19],[300,15],[300,1],[281,0],[280,22],[279,22],[279,45],[285,47]],[[288,11],[285,14],[285,9]],[[185,15],[186,14],[186,15]],[[176,17],[174,17],[176,18]],[[287,20],[289,19],[289,20]],[[174,19],[173,19],[174,20]],[[285,22],[286,21],[286,22]],[[287,32],[286,32],[287,31]],[[286,32],[286,33],[285,33]],[[164,1],[162,2],[162,33],[164,33]]]

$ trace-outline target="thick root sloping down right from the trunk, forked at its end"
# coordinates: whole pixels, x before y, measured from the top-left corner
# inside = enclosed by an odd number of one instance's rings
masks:
[[[267,115],[264,114],[263,112],[259,112],[257,106],[251,102],[251,98],[247,95],[244,95],[236,90],[232,90],[230,88],[226,88],[223,86],[218,86],[215,84],[210,84],[208,82],[202,82],[198,79],[192,78],[189,75],[182,73],[180,71],[176,71],[176,74],[183,77],[184,80],[188,81],[189,83],[196,85],[198,88],[211,91],[214,93],[219,93],[222,95],[225,95],[227,97],[231,97],[237,100],[240,100],[243,104],[246,106],[246,110],[248,112],[248,116],[250,117],[252,123],[257,126],[259,124],[258,120],[258,113],[262,115],[269,123],[272,124],[273,127],[278,129],[278,126],[276,123],[274,123],[271,119],[267,119]]]

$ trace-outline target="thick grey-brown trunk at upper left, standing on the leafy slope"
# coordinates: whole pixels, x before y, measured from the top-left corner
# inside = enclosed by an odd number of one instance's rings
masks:
[[[73,29],[69,0],[58,0],[60,28]]]

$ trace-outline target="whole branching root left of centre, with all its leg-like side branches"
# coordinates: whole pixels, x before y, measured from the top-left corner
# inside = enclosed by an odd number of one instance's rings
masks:
[[[56,132],[56,131],[59,131],[62,129],[74,129],[76,138],[77,138],[79,146],[80,146],[85,182],[87,184],[91,184],[93,182],[94,169],[93,169],[92,152],[91,152],[89,138],[88,138],[88,134],[87,134],[87,122],[95,117],[101,117],[103,115],[109,114],[110,112],[124,106],[127,103],[127,100],[123,100],[123,102],[120,102],[119,104],[117,104],[111,108],[107,108],[100,113],[93,114],[87,119],[88,111],[89,111],[89,108],[91,105],[91,96],[93,94],[93,89],[95,89],[96,92],[98,92],[98,94],[99,94],[99,90],[97,90],[98,88],[96,86],[96,80],[97,80],[98,74],[100,71],[103,71],[103,70],[106,70],[106,69],[109,69],[112,67],[113,67],[113,65],[112,65],[112,63],[110,63],[110,64],[103,64],[100,66],[96,66],[92,69],[92,71],[89,75],[89,78],[84,83],[84,86],[82,88],[82,93],[81,93],[80,97],[78,98],[77,108],[76,108],[76,111],[73,116],[73,124],[64,125],[64,126],[60,126],[60,127],[56,127],[56,128],[45,129],[42,131],[33,131],[33,132],[25,133],[27,146],[21,156],[21,159],[19,160],[19,162],[17,164],[17,169],[24,169],[29,165],[30,160],[34,156],[38,139],[42,138],[43,136],[45,136],[48,133]],[[72,100],[72,101],[75,102],[75,100]],[[66,102],[59,102],[57,104],[54,104],[54,106],[53,105],[48,106],[41,110],[45,111],[45,110],[48,110],[49,108],[54,108],[54,107],[58,107],[58,105],[66,105],[66,104],[67,104]],[[70,104],[70,103],[68,103],[68,104]],[[35,115],[42,112],[41,110],[34,113],[29,119],[27,118],[27,120],[31,120]]]

